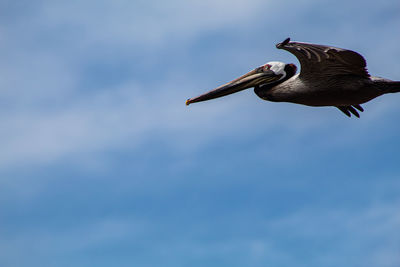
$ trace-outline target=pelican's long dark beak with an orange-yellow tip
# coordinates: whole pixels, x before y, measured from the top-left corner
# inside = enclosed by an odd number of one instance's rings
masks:
[[[282,75],[276,75],[273,71],[259,67],[249,73],[229,82],[221,85],[214,90],[211,90],[200,96],[189,98],[186,100],[186,105],[191,103],[206,101],[221,96],[230,95],[247,88],[255,87],[262,84],[272,83],[278,81]]]

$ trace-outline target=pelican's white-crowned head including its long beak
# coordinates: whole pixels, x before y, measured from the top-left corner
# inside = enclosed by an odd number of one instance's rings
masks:
[[[186,105],[226,96],[252,87],[262,85],[274,86],[292,77],[296,73],[296,70],[297,67],[294,64],[271,61],[214,90],[194,98],[189,98],[186,100]]]

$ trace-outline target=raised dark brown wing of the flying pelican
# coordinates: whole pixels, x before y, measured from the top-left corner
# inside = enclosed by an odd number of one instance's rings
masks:
[[[365,59],[358,53],[333,46],[290,42],[287,38],[276,45],[300,61],[300,77],[306,80],[336,75],[357,75],[368,78]]]

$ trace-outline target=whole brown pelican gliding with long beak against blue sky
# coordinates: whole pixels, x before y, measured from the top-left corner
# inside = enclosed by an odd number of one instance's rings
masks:
[[[370,76],[365,59],[357,52],[318,44],[291,42],[276,45],[297,57],[294,64],[272,61],[200,96],[186,105],[254,87],[263,100],[313,107],[333,106],[348,117],[360,117],[361,104],[387,93],[400,92],[400,81]]]

